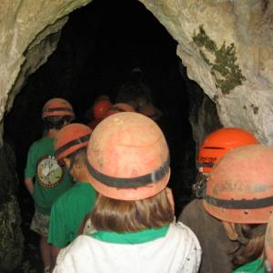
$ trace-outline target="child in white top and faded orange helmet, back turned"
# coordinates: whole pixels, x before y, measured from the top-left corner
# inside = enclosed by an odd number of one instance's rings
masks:
[[[98,192],[94,228],[60,251],[54,272],[197,273],[201,248],[174,221],[169,152],[157,124],[132,112],[108,116],[90,137],[86,161]]]

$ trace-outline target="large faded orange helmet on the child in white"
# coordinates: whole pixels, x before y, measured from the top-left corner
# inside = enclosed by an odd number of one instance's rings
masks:
[[[147,116],[118,113],[96,126],[87,149],[90,183],[101,195],[140,200],[157,195],[170,176],[165,136]]]

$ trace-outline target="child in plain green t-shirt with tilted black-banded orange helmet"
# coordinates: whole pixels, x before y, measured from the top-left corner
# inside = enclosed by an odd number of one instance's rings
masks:
[[[78,235],[79,227],[96,201],[96,191],[88,182],[86,147],[92,130],[82,124],[71,124],[56,134],[55,154],[74,177],[76,185],[66,191],[51,209],[47,242],[52,245],[52,258]],[[54,267],[54,263],[53,263]]]

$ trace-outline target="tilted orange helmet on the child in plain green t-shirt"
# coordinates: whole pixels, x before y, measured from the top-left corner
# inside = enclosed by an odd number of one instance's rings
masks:
[[[85,125],[73,123],[63,127],[56,134],[55,155],[63,159],[82,147],[88,146],[92,130]]]

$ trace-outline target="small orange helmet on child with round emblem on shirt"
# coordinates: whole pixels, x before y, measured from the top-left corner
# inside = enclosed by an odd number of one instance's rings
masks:
[[[43,115],[45,118],[47,116],[72,116],[74,117],[73,107],[70,103],[64,99],[55,97],[48,100],[43,107]]]

